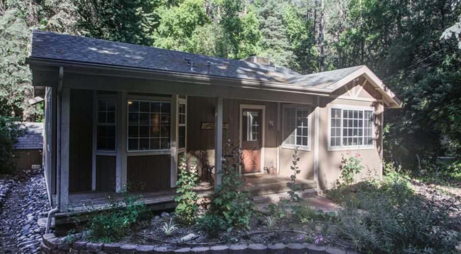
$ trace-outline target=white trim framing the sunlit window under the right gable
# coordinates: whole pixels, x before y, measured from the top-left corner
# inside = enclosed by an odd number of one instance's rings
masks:
[[[376,117],[376,110],[369,106],[354,106],[345,104],[328,104],[328,151],[345,151],[345,150],[370,150],[375,149],[376,146],[376,130],[374,120]],[[373,130],[373,143],[371,145],[357,145],[357,146],[332,146],[331,145],[331,110],[369,110],[373,112],[373,121],[371,121],[371,130]],[[342,115],[341,115],[341,142],[342,142]]]

